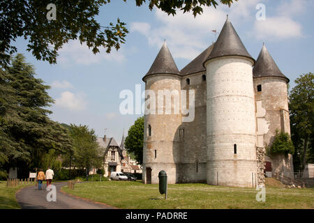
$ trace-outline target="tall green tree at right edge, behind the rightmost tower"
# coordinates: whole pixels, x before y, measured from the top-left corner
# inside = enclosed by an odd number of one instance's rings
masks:
[[[314,75],[301,75],[290,91],[289,109],[292,141],[295,146],[294,165],[303,169],[306,162],[313,159],[314,130]]]

